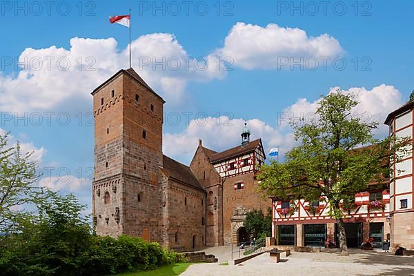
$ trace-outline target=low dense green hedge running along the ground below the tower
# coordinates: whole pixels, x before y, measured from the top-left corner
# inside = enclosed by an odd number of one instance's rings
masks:
[[[8,241],[3,237],[0,275],[112,275],[186,262],[184,255],[136,237],[81,236],[72,241],[38,244],[37,249],[30,246],[33,239],[22,243],[20,237],[9,237]]]

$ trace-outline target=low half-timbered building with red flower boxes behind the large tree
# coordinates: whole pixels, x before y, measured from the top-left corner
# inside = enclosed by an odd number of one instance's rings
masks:
[[[380,206],[374,206],[379,201]],[[272,200],[272,234],[276,245],[325,246],[333,242],[339,246],[336,220],[329,215],[329,205],[324,197],[319,201],[304,199],[294,201]],[[358,247],[369,237],[382,247],[389,239],[390,195],[388,188],[357,193],[353,204],[342,206],[348,247]]]

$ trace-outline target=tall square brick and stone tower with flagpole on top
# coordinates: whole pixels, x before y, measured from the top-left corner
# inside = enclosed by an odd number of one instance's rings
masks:
[[[159,168],[165,101],[132,68],[119,70],[92,96],[97,234],[162,242]]]

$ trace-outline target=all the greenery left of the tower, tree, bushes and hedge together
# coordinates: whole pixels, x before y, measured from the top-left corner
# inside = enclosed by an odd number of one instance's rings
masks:
[[[74,195],[36,188],[36,164],[0,135],[0,275],[110,275],[186,262],[135,237],[92,234]],[[32,212],[19,210],[31,204]]]

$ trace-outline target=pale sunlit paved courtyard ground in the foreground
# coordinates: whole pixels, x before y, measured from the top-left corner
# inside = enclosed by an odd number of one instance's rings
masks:
[[[293,252],[276,264],[264,253],[238,266],[194,264],[181,275],[414,275],[414,257],[361,250],[351,250],[349,256]]]

